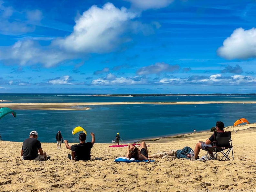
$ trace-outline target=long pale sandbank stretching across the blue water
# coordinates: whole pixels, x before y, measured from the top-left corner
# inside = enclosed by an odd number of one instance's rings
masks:
[[[0,103],[0,108],[9,107],[11,109],[30,110],[88,110],[90,105],[135,105],[135,104],[155,104],[155,105],[197,105],[197,104],[255,104],[256,101],[200,101],[200,102],[90,102],[90,103]]]

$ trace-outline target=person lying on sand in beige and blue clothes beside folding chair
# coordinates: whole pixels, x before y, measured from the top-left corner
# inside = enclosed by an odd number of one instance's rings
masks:
[[[161,153],[156,153],[153,155],[150,155],[148,158],[158,158],[158,157],[162,157],[162,158],[173,158],[173,159],[180,159],[180,158],[186,158],[186,159],[190,159],[190,151],[192,149],[190,147],[184,147],[183,149],[172,149],[171,151],[163,151]]]

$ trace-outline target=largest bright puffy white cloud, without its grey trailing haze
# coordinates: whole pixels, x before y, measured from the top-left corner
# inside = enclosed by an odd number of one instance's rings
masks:
[[[54,44],[74,52],[111,51],[129,40],[123,33],[131,27],[129,21],[136,16],[125,7],[119,9],[112,3],[106,3],[102,8],[93,5],[75,21],[73,32],[64,39],[56,40]]]

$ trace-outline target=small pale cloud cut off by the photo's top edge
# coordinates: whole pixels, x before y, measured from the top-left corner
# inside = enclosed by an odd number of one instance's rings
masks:
[[[170,5],[174,0],[126,0],[132,3],[134,7],[146,9],[159,9]]]

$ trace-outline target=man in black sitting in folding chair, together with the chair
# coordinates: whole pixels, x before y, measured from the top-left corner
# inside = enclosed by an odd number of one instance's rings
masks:
[[[206,140],[206,142],[197,143],[194,151],[196,159],[198,158],[200,149],[203,149],[207,151],[207,153],[209,154],[210,160],[217,159],[217,153],[221,152],[223,157],[220,159],[220,161],[222,161],[224,158],[225,158],[224,161],[226,159],[230,160],[228,155],[230,150],[232,150],[232,157],[234,160],[233,148],[232,148],[232,142],[231,142],[231,132],[230,131],[224,132],[224,123],[222,123],[221,121],[216,122],[216,129],[217,131],[215,131],[210,136],[210,138]],[[225,153],[224,150],[226,149],[228,149],[228,151]]]

